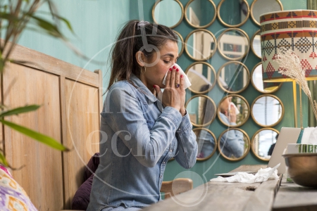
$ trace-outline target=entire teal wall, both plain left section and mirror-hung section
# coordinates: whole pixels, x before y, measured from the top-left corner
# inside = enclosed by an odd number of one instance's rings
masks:
[[[189,0],[180,0],[182,5],[185,7]],[[247,0],[249,5],[251,6],[252,0]],[[281,0],[284,6],[284,9],[299,9],[306,8],[306,0]],[[142,5],[138,5],[138,3],[142,3]],[[213,1],[216,5],[219,4],[220,0]],[[58,3],[58,4],[57,4]],[[89,58],[96,56],[95,60],[104,61],[104,65],[96,65],[89,63],[87,65],[87,60],[83,60],[73,53],[68,47],[66,47],[61,41],[57,39],[52,39],[50,37],[46,37],[43,35],[35,34],[33,32],[24,32],[21,37],[19,44],[23,46],[27,46],[30,49],[35,49],[36,51],[41,51],[43,53],[49,54],[50,56],[54,56],[61,60],[65,60],[68,63],[72,63],[74,65],[78,65],[82,68],[88,70],[96,70],[101,69],[104,75],[104,87],[108,84],[109,72],[108,65],[106,64],[106,60],[108,58],[108,52],[111,49],[111,45],[113,41],[115,41],[116,34],[122,25],[131,19],[139,19],[144,17],[144,20],[152,21],[151,11],[154,6],[154,0],[116,0],[116,1],[87,1],[87,0],[68,0],[68,1],[57,1],[56,4],[58,6],[58,11],[70,20],[72,23],[75,34],[77,36],[73,36],[69,32],[68,37],[70,38],[71,43],[80,49],[82,53],[85,53]],[[139,11],[139,7],[142,8]],[[45,8],[43,8],[45,9]],[[242,30],[247,32],[249,37],[251,38],[254,32],[259,30],[259,26],[255,25],[251,18],[247,20],[247,23],[240,27]],[[215,34],[216,37],[219,36],[221,30],[225,29],[223,25],[216,19],[216,21],[207,28]],[[182,37],[185,39],[187,34],[194,30],[193,27],[188,25],[185,20],[182,20],[182,23],[175,27],[176,31],[180,32]],[[100,53],[99,53],[100,51]],[[98,54],[99,53],[99,54]],[[249,55],[242,60],[249,71],[254,68],[256,63],[259,63],[261,60],[254,56],[254,54],[250,51]],[[185,70],[194,60],[189,58],[184,52],[182,56],[180,56],[178,60],[178,64]],[[209,61],[213,68],[216,71],[220,68],[223,63],[227,62],[224,58],[222,58],[217,52]],[[190,91],[187,91],[187,99],[193,96]],[[214,87],[208,94],[213,98],[216,105],[221,98],[223,98],[223,91],[220,90],[218,85]],[[254,89],[254,87],[249,84],[249,87],[241,93],[244,98],[247,98],[250,106],[254,99],[261,95],[258,91]],[[285,106],[285,116],[282,121],[275,127],[275,129],[280,130],[281,127],[294,127],[294,115],[293,115],[293,98],[292,98],[292,84],[285,83],[282,85],[281,89],[275,92],[275,95],[278,96]],[[307,113],[307,101],[304,99],[304,114]],[[304,121],[304,127],[307,126],[307,120]],[[216,135],[217,139],[221,132],[223,132],[226,127],[220,123],[218,118],[212,122],[209,129],[213,134]],[[251,118],[244,124],[241,129],[243,129],[249,135],[250,139],[254,135],[254,133],[261,129],[261,127],[257,126]],[[189,177],[194,180],[194,186],[198,186],[199,184],[209,181],[209,179],[213,178],[213,174],[220,172],[228,172],[240,165],[253,165],[253,164],[267,164],[267,162],[263,162],[256,158],[253,153],[249,153],[246,158],[240,160],[238,162],[231,162],[225,160],[221,155],[219,155],[218,151],[213,155],[212,158],[206,160],[204,162],[197,162],[194,167],[190,170],[185,170],[180,167],[178,163],[173,160],[168,162],[166,167],[166,172],[164,174],[164,180],[172,180],[176,177]]]

